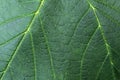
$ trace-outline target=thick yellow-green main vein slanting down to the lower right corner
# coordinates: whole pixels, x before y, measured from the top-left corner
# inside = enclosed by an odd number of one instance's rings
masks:
[[[96,17],[96,20],[97,20],[97,22],[98,22],[98,27],[99,27],[99,30],[100,30],[100,32],[101,32],[101,35],[102,35],[102,38],[103,38],[103,40],[104,40],[104,43],[105,43],[105,47],[106,47],[106,50],[107,50],[107,54],[106,55],[108,55],[109,56],[109,61],[110,61],[110,64],[111,64],[111,70],[112,70],[112,75],[113,75],[113,79],[115,80],[115,74],[114,74],[114,71],[113,71],[113,62],[112,62],[112,57],[111,57],[111,55],[110,55],[110,49],[109,49],[109,45],[108,45],[108,41],[107,41],[107,39],[106,39],[106,37],[105,37],[105,34],[104,34],[104,30],[103,30],[103,28],[102,28],[102,26],[101,26],[101,23],[100,23],[100,20],[99,20],[99,18],[98,18],[98,16],[97,16],[97,13],[96,13],[96,8],[88,1],[88,4],[90,5],[90,7],[92,8],[92,10],[93,10],[93,12],[94,12],[94,15],[95,15],[95,17]],[[104,64],[102,64],[102,65],[104,65]],[[102,69],[101,69],[102,70]],[[100,74],[100,71],[99,71],[99,74]],[[99,75],[97,75],[97,77],[98,77]]]

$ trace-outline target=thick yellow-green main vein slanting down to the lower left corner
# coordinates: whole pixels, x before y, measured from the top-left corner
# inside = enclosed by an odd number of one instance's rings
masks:
[[[32,25],[33,25],[33,23],[34,23],[36,17],[37,17],[38,14],[40,13],[40,9],[41,9],[41,7],[42,7],[43,4],[44,4],[44,0],[41,0],[38,9],[36,10],[36,12],[35,12],[35,14],[34,14],[32,20],[31,20],[31,22],[29,23],[29,25],[28,25],[26,31],[25,31],[24,34],[23,34],[23,37],[22,37],[21,40],[18,42],[18,45],[17,45],[15,51],[13,52],[13,55],[11,56],[11,58],[10,58],[8,64],[6,65],[6,67],[5,67],[5,69],[4,69],[4,73],[3,73],[2,76],[0,77],[0,80],[3,80],[3,78],[4,78],[4,76],[5,76],[6,72],[7,72],[7,70],[9,69],[9,67],[10,67],[10,65],[11,65],[11,63],[12,63],[14,57],[15,57],[15,55],[17,54],[19,48],[21,47],[22,42],[24,41],[24,39],[25,39],[27,33],[30,32],[30,29],[31,29],[31,27],[32,27]],[[35,79],[36,79],[36,78],[35,78]]]

